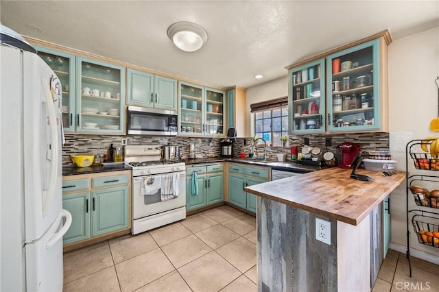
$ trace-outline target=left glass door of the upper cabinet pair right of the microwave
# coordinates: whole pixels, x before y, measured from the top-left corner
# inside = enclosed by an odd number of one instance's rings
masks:
[[[195,84],[179,82],[180,112],[178,134],[201,136],[204,134],[203,101],[204,88]]]

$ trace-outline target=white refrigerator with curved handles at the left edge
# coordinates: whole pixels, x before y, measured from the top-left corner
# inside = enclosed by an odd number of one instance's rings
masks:
[[[62,291],[61,84],[35,53],[0,50],[0,291]]]

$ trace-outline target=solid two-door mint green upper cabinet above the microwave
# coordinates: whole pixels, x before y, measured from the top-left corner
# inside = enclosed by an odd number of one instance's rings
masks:
[[[127,69],[127,104],[177,110],[177,80]]]

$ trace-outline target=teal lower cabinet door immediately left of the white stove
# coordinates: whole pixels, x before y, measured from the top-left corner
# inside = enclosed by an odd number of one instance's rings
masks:
[[[91,192],[92,236],[128,228],[128,186]]]

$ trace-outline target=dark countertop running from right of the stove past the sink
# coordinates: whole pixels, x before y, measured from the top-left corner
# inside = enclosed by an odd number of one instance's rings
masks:
[[[322,169],[321,167],[313,167],[309,165],[300,165],[292,161],[271,161],[271,160],[257,160],[257,159],[241,159],[241,158],[195,158],[183,160],[187,165],[197,165],[202,163],[212,163],[212,162],[236,162],[243,163],[246,165],[257,165],[260,167],[270,167],[271,169],[290,171],[295,173],[309,173],[312,171],[317,171]]]

